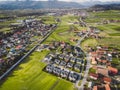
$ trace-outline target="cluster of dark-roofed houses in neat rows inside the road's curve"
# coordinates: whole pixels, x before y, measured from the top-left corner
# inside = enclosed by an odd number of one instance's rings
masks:
[[[44,45],[43,47],[45,47]],[[84,53],[79,47],[75,47],[65,42],[53,42],[44,49],[52,51],[43,62],[48,63],[45,70],[72,82],[81,79],[80,72],[85,70],[86,60]],[[37,49],[40,50],[41,47]],[[55,52],[56,51],[56,52]],[[69,77],[68,77],[69,75]]]

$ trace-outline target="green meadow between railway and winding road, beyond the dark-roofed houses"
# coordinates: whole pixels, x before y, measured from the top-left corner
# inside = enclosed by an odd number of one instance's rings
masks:
[[[71,42],[70,38],[80,39],[80,37],[75,36],[73,30],[84,30],[86,28],[80,27],[79,25],[70,25],[68,22],[78,21],[78,17],[74,17],[72,15],[64,15],[59,17],[61,18],[61,23],[59,24],[58,28],[53,32],[53,34],[44,42],[49,43],[51,41],[65,41],[69,42],[72,45],[75,45],[76,42]],[[73,30],[71,30],[71,27]]]

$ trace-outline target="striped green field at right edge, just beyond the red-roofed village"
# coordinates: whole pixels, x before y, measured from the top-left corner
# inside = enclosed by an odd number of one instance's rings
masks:
[[[119,23],[111,23],[107,25],[98,26],[100,30],[103,30],[104,38],[98,40],[98,43],[106,46],[114,46],[120,48],[120,25]]]

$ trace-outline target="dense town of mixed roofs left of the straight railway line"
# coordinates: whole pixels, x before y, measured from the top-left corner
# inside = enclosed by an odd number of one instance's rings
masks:
[[[0,75],[16,63],[34,44],[40,42],[51,32],[55,25],[45,25],[38,20],[25,20],[24,26],[17,27],[10,33],[0,34]],[[37,38],[39,36],[39,38]]]

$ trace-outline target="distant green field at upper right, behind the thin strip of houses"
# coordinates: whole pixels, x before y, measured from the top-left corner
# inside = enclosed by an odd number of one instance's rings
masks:
[[[85,20],[87,23],[98,23],[102,22],[103,20],[120,20],[120,11],[119,10],[107,10],[107,11],[100,11],[100,12],[90,12],[89,16]]]

